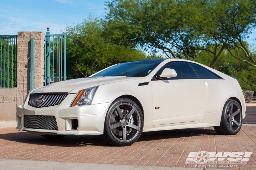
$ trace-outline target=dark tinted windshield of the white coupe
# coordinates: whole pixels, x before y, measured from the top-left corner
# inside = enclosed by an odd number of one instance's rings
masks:
[[[92,77],[103,76],[126,76],[126,77],[145,77],[156,68],[164,59],[141,60],[135,62],[121,63],[107,68]]]

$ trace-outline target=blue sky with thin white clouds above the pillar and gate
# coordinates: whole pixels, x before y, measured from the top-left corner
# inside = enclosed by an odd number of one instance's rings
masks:
[[[65,26],[81,22],[88,15],[106,13],[105,0],[1,0],[0,35],[17,35],[18,31],[44,31],[51,34],[65,31]],[[256,43],[256,30],[249,36]]]

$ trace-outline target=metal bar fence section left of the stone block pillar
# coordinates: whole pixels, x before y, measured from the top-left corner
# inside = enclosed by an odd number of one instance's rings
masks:
[[[17,87],[17,35],[0,35],[0,87]]]

